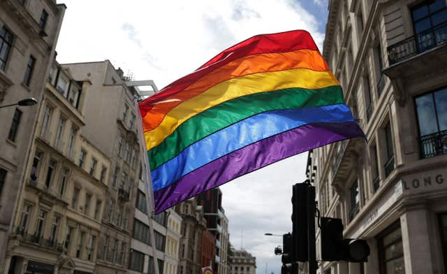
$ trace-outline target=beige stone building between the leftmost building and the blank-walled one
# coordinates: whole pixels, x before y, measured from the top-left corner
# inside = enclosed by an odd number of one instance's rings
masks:
[[[20,191],[5,273],[93,273],[110,161],[82,136],[89,80],[54,62]]]

